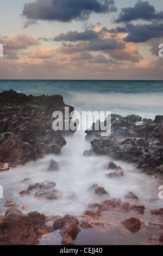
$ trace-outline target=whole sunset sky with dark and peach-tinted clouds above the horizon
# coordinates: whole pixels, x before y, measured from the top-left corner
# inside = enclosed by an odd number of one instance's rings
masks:
[[[162,0],[1,0],[0,79],[162,80]]]

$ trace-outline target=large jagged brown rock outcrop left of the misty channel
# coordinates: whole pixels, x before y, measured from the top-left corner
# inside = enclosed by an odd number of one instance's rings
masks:
[[[66,144],[61,131],[54,131],[52,114],[65,107],[63,97],[26,96],[13,90],[0,93],[0,162],[15,167],[46,154],[59,154]]]

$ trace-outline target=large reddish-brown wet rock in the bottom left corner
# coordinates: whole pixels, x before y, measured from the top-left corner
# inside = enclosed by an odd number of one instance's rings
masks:
[[[14,245],[35,245],[43,234],[48,233],[45,220],[45,215],[37,211],[23,215],[12,206],[0,219],[0,241],[9,241]]]

